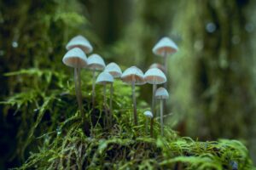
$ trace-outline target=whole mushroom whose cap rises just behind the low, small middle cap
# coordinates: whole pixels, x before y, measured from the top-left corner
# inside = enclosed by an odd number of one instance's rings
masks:
[[[113,76],[113,78],[119,78],[122,76],[122,71],[119,67],[119,65],[117,65],[116,63],[109,63],[106,67],[105,67],[105,71],[109,72],[109,74],[111,74]],[[110,113],[112,113],[113,111],[113,106],[112,106],[112,97],[113,97],[113,84],[111,84],[110,87]]]

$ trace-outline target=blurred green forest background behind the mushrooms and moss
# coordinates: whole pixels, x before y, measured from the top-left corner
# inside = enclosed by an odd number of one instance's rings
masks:
[[[107,63],[144,72],[161,37],[179,52],[169,58],[166,125],[193,139],[240,139],[256,162],[256,2],[253,0],[2,0],[0,99],[26,88],[4,73],[27,68],[67,69],[70,38],[87,37]],[[22,86],[20,86],[22,84]],[[151,86],[140,88],[150,104]],[[0,105],[0,168],[13,156],[19,115]]]

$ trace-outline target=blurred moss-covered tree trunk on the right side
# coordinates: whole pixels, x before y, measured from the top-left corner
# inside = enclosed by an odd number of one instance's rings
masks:
[[[173,25],[183,37],[182,52],[171,67],[175,112],[185,112],[187,134],[203,139],[252,137],[256,111],[248,45],[252,23],[244,12],[251,3],[180,4]]]

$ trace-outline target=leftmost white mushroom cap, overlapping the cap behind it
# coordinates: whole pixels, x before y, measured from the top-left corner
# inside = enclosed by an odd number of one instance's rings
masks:
[[[83,68],[87,65],[87,58],[80,48],[72,48],[64,55],[62,62],[71,67]]]

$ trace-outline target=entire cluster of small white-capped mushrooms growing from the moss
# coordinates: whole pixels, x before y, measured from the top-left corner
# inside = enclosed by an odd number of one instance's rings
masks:
[[[161,125],[161,135],[164,135],[164,121],[163,121],[163,100],[169,98],[169,94],[166,90],[166,75],[167,75],[167,58],[169,54],[174,54],[177,52],[177,45],[169,38],[163,37],[153,48],[153,53],[160,55],[164,58],[165,65],[160,65],[154,63],[150,65],[148,71],[143,74],[143,71],[136,66],[131,66],[126,69],[123,73],[116,63],[109,63],[105,65],[104,60],[99,54],[91,54],[87,59],[86,54],[90,54],[93,48],[90,42],[83,36],[73,37],[67,43],[67,54],[64,55],[62,62],[70,67],[74,68],[74,85],[75,94],[79,104],[79,111],[82,115],[82,122],[84,122],[84,108],[82,104],[82,93],[81,93],[81,77],[80,71],[82,68],[86,68],[92,71],[92,93],[91,93],[91,103],[92,109],[95,107],[95,86],[96,84],[103,85],[103,99],[104,99],[104,110],[106,112],[106,126],[112,126],[112,114],[113,114],[113,82],[114,79],[120,78],[122,82],[131,85],[132,91],[132,103],[133,103],[133,120],[134,125],[138,125],[137,117],[137,102],[136,102],[136,85],[143,85],[145,83],[153,85],[152,91],[152,105],[151,111],[145,111],[143,114],[146,116],[146,133],[148,133],[148,119],[150,122],[150,135],[153,137],[153,126],[155,117],[155,99],[160,99],[160,125]],[[102,71],[97,77],[96,72]],[[107,84],[110,84],[110,101],[109,101],[109,111],[107,102]],[[165,88],[157,88],[157,85],[165,84]]]

